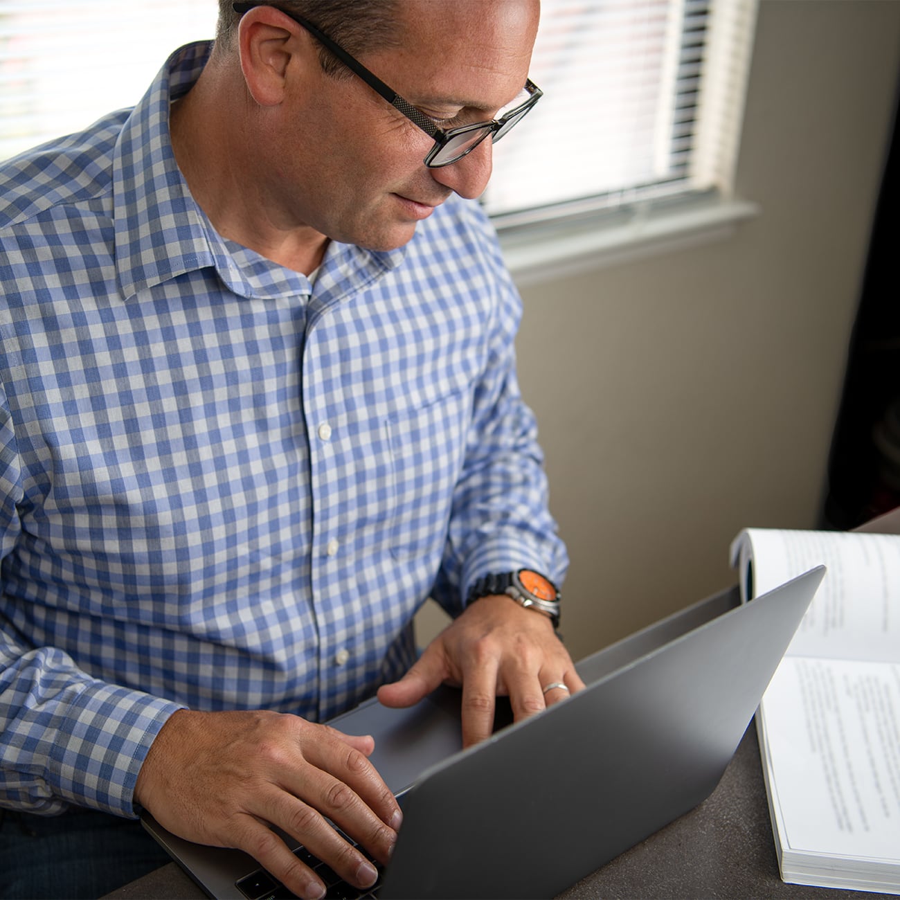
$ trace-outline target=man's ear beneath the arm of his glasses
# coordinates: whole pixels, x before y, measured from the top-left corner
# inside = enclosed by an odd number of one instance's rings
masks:
[[[310,66],[310,36],[290,16],[272,6],[254,6],[238,24],[240,68],[247,90],[261,106],[284,100],[288,76]]]

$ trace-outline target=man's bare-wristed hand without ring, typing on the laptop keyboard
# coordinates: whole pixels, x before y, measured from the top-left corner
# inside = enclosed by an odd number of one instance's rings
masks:
[[[237,847],[297,896],[320,897],[320,879],[266,823],[301,841],[350,884],[372,885],[372,863],[325,817],[387,862],[401,812],[367,759],[373,749],[371,737],[299,716],[181,709],[150,746],[134,796],[170,832]]]

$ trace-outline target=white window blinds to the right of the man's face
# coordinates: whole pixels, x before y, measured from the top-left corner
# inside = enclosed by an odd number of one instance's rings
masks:
[[[531,77],[545,96],[495,148],[488,210],[515,224],[728,193],[755,13],[756,0],[544,0]]]

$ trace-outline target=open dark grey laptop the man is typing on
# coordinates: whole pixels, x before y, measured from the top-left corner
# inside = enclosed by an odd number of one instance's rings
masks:
[[[586,689],[466,750],[454,689],[332,720],[374,735],[372,759],[403,809],[376,896],[554,896],[698,806],[823,575],[746,604],[734,587],[664,618],[582,660]],[[184,841],[146,813],[143,824],[209,896],[291,896],[241,851]]]

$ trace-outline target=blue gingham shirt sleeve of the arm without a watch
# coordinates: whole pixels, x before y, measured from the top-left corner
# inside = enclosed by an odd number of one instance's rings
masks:
[[[0,386],[0,554],[22,536],[23,473]],[[0,574],[0,807],[52,815],[69,803],[134,815],[141,763],[178,704],[106,684],[67,653],[31,647],[4,615]]]

